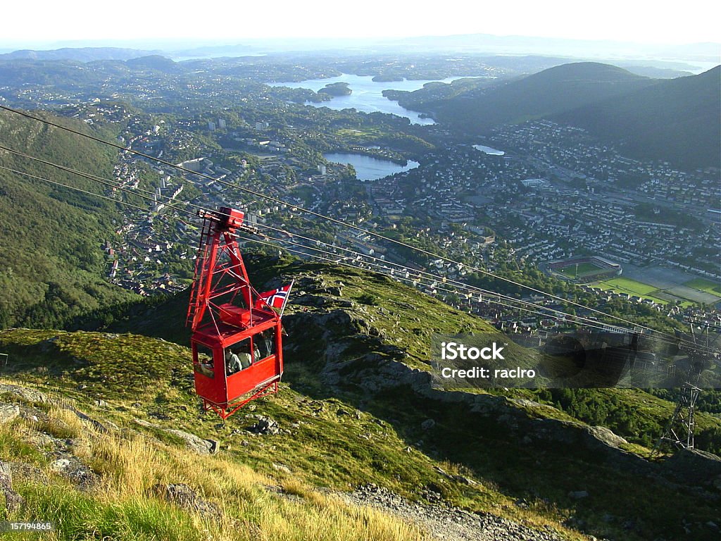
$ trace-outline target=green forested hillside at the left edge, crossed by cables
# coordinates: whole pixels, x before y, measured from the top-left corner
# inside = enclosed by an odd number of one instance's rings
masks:
[[[112,175],[113,149],[8,113],[0,113],[0,132],[9,148]],[[102,193],[95,182],[7,151],[0,151],[0,166]],[[120,219],[110,201],[0,169],[0,327],[61,327],[87,309],[130,298],[102,278],[108,265],[102,243]]]

